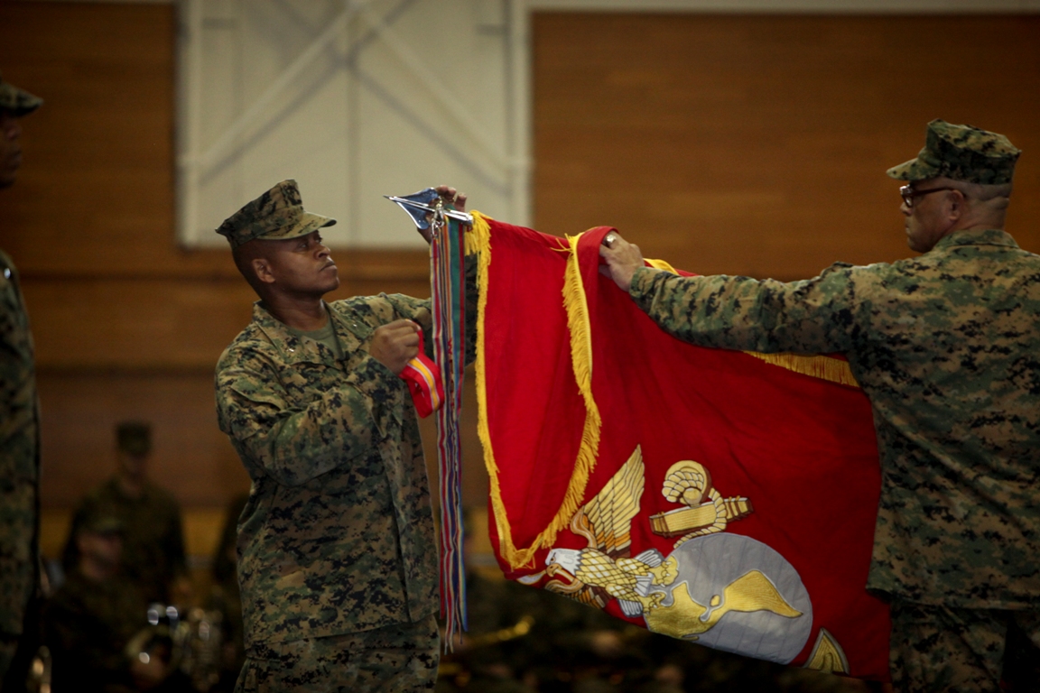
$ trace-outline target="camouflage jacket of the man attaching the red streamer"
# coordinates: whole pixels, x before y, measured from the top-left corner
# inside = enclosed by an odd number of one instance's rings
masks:
[[[415,406],[368,354],[375,328],[393,320],[428,335],[430,301],[380,294],[328,310],[343,361],[258,302],[216,367],[220,429],[253,480],[238,525],[246,647],[416,622],[438,605]]]

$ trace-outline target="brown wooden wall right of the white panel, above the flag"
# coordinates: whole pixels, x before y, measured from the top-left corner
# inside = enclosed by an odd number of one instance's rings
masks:
[[[1040,17],[536,15],[536,219],[701,273],[909,257],[899,183],[935,117],[1023,150],[1040,250]]]

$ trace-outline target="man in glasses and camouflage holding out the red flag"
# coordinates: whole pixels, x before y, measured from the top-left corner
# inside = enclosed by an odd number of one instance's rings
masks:
[[[783,284],[647,267],[618,234],[600,249],[679,340],[848,357],[880,453],[866,586],[890,605],[898,691],[997,691],[1009,628],[1040,646],[1040,257],[1004,231],[1018,155],[1003,135],[931,122],[917,157],[887,171],[907,182],[907,242],[922,254],[892,264]]]

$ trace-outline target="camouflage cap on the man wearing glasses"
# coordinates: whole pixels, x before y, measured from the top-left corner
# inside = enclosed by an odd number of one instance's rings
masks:
[[[901,181],[942,176],[965,183],[1004,185],[1011,183],[1019,154],[1021,151],[1004,135],[936,119],[928,124],[925,149],[917,158],[886,172]]]

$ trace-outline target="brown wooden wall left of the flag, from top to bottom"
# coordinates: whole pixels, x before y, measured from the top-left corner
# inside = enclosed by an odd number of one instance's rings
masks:
[[[49,555],[64,540],[72,505],[111,474],[121,420],[153,423],[152,476],[185,507],[192,551],[209,551],[214,517],[249,484],[216,427],[213,367],[249,322],[255,296],[230,251],[176,242],[175,11],[0,3],[0,70],[45,99],[22,121],[19,181],[0,191],[0,247],[22,272],[36,344]],[[342,286],[330,299],[428,296],[423,252],[334,257]],[[479,505],[487,477],[472,391],[467,397],[467,464],[476,470],[466,499]],[[423,435],[434,438],[428,422]]]

